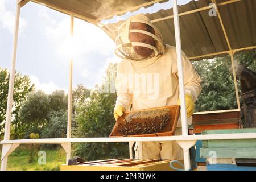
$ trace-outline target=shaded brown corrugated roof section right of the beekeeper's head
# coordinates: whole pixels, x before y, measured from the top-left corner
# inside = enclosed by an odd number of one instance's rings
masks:
[[[230,48],[240,49],[256,46],[256,1],[242,0],[224,5],[225,0],[216,1]],[[179,6],[179,14],[208,7],[212,3],[210,0],[191,1],[186,5]],[[218,16],[209,16],[209,9],[180,16],[181,46],[185,54],[191,60],[201,60],[209,56],[208,54],[229,51],[229,46],[225,38],[224,31]],[[172,9],[159,10],[153,14],[146,14],[154,22],[162,33],[164,43],[175,46],[174,20],[164,17],[173,15]],[[110,30],[117,30],[122,22],[108,24]],[[205,55],[205,56],[204,56]],[[220,56],[226,55],[226,52]],[[193,57],[202,56],[193,59]]]

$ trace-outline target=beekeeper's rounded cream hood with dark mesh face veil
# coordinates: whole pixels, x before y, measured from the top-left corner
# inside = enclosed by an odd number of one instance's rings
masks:
[[[144,28],[134,28],[134,24],[138,23]],[[157,59],[164,53],[160,32],[144,14],[132,16],[121,24],[115,44],[115,54],[126,60]]]

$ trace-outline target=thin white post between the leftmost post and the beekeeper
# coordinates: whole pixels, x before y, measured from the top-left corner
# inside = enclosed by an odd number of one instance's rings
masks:
[[[71,36],[71,45],[69,45],[69,51],[73,49],[73,29],[74,29],[74,16],[71,15],[71,24],[70,24],[70,36]],[[71,138],[71,122],[72,122],[72,79],[73,79],[73,53],[71,53],[71,60],[69,63],[69,87],[68,87],[68,127],[67,127],[67,138]],[[68,159],[71,158],[71,142],[68,143],[66,149],[67,152],[67,164]]]

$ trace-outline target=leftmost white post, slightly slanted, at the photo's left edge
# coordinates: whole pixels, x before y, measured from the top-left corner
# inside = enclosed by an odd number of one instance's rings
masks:
[[[16,15],[15,15],[15,26],[14,26],[14,40],[13,40],[13,55],[11,58],[10,78],[9,78],[9,89],[7,98],[6,108],[6,121],[5,121],[5,137],[4,140],[10,139],[10,128],[11,128],[11,110],[13,108],[13,92],[14,92],[14,79],[15,79],[15,68],[16,68],[16,53],[18,43],[18,32],[19,32],[19,16],[20,16],[20,1],[16,1]],[[4,145],[3,145],[4,148]],[[3,155],[3,150],[2,150]],[[2,159],[1,170],[6,170],[8,155]]]

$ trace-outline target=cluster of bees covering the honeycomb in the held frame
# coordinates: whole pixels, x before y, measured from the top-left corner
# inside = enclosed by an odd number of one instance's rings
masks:
[[[168,109],[156,109],[132,112],[126,115],[122,123],[118,123],[119,133],[126,137],[135,134],[157,133],[163,129],[170,120]]]

